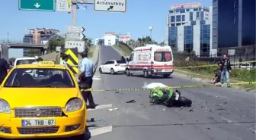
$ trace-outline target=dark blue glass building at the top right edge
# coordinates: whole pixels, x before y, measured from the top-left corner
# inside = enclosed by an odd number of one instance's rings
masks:
[[[213,0],[213,48],[255,54],[256,1]]]

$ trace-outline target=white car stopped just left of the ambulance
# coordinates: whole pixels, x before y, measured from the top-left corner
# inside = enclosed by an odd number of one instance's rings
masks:
[[[115,61],[109,60],[104,64],[101,64],[99,71],[100,73],[125,73],[126,61]]]

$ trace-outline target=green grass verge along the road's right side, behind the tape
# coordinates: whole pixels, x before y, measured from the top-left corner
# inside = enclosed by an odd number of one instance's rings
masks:
[[[184,62],[182,62],[184,63]],[[191,64],[190,66],[198,65],[198,62],[195,62],[197,64]],[[208,64],[208,63],[206,63]],[[215,73],[214,70],[216,70],[218,67],[197,67],[197,68],[181,68],[181,67],[186,67],[184,64],[177,64],[178,67],[176,67],[176,72],[178,73],[183,73],[187,75],[187,78],[192,77],[197,77],[200,79],[204,79],[210,82],[211,79],[213,79]],[[183,65],[183,66],[181,66]],[[199,64],[199,65],[204,65],[204,64]],[[256,70],[241,70],[241,69],[233,69],[232,73],[229,75],[231,83],[235,82],[254,82],[256,81]],[[225,80],[225,78],[224,78]],[[251,92],[256,92],[256,85],[241,85],[241,86],[233,86],[238,89],[244,89],[245,91],[251,91]]]

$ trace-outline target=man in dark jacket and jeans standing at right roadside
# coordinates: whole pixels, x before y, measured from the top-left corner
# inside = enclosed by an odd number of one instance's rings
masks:
[[[219,62],[219,68],[221,70],[220,82],[223,84],[223,82],[224,82],[223,78],[224,78],[224,76],[226,76],[227,86],[230,87],[229,73],[231,73],[232,68],[231,68],[230,61],[227,58],[226,54],[223,55],[222,61]]]

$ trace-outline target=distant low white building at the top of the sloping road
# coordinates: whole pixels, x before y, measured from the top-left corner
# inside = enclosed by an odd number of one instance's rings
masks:
[[[103,37],[99,39],[95,39],[95,44],[96,45],[115,45],[118,42],[124,42],[128,43],[130,42],[130,33],[127,34],[119,34],[114,32],[107,32],[104,34]]]

